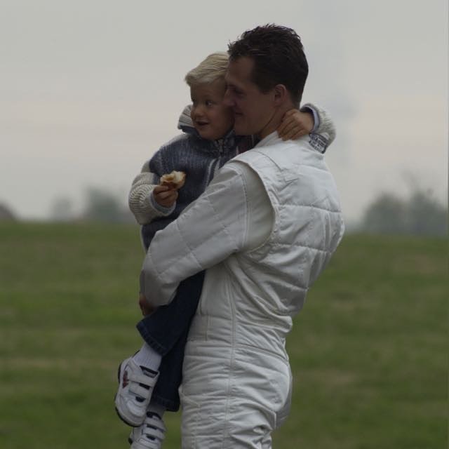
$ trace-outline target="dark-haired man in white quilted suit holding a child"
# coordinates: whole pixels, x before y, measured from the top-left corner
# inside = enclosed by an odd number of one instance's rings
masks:
[[[290,408],[292,317],[344,225],[323,142],[283,142],[275,131],[307,79],[299,36],[257,27],[228,53],[236,133],[261,140],[156,234],[141,291],[152,306],[167,304],[180,281],[207,270],[185,351],[182,448],[268,449]]]

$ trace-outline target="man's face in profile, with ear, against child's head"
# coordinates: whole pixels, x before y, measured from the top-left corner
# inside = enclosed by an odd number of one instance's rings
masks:
[[[251,80],[254,61],[239,58],[229,61],[226,74],[225,105],[234,112],[234,130],[239,135],[257,135],[264,138],[271,130],[276,112],[274,91],[262,93]]]

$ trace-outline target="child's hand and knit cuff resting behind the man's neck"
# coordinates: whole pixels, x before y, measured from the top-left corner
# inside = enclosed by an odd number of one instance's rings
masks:
[[[327,148],[335,139],[335,126],[328,112],[306,103],[299,111],[290,109],[286,112],[278,133],[283,140],[294,140],[308,133],[319,134],[327,140]]]

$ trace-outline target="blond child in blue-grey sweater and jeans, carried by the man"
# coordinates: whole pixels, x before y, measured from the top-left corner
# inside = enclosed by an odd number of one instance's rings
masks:
[[[184,134],[163,145],[133,181],[129,206],[142,225],[145,251],[154,234],[201,195],[217,170],[256,143],[252,137],[234,134],[232,110],[222,103],[227,62],[227,53],[213,53],[185,76],[192,107],[187,107],[180,116],[178,128]],[[326,113],[311,105],[301,110],[286,114],[279,135],[284,139],[298,138],[314,128],[317,140],[329,145],[335,130]],[[186,174],[185,184],[180,189],[159,185],[161,177],[173,170]],[[163,413],[176,411],[180,406],[178,387],[184,348],[201,296],[203,277],[201,272],[180,283],[170,304],[159,307],[138,323],[145,343],[119,366],[115,406],[121,420],[134,427],[129,438],[132,449],[161,448],[166,431]]]

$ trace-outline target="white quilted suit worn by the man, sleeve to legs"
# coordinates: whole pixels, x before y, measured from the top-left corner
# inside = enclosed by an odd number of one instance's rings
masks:
[[[248,246],[239,170],[218,175],[149,248],[141,281],[153,304],[166,304],[182,279],[208,269],[185,353],[183,448],[269,448],[288,415],[286,335],[344,231],[335,182],[312,145],[273,133],[229,163],[257,173],[274,212],[257,248]]]

